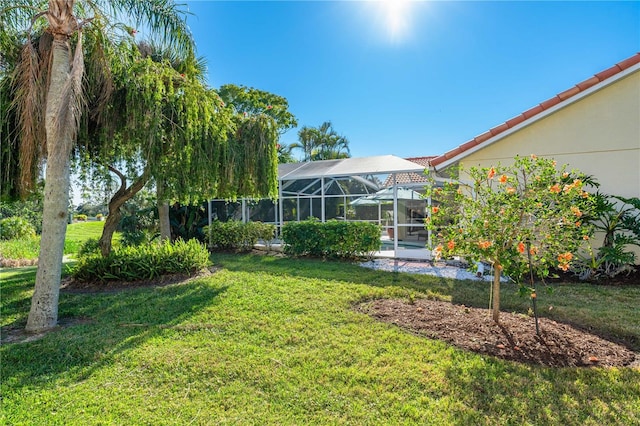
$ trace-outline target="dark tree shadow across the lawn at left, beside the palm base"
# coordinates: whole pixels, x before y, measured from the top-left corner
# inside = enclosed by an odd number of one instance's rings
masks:
[[[81,381],[120,354],[216,304],[226,289],[195,280],[112,294],[62,294],[60,322],[83,321],[37,341],[3,344],[0,376],[12,387],[44,383],[62,373]]]

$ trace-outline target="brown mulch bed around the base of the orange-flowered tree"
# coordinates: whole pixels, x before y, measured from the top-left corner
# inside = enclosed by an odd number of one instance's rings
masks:
[[[443,301],[380,299],[358,309],[419,335],[506,360],[549,367],[640,366],[640,355],[625,346],[547,318],[539,320],[538,337],[532,317],[501,312],[498,325],[488,309]]]

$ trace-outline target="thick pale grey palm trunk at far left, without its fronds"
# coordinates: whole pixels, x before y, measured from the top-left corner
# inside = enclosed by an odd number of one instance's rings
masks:
[[[26,330],[38,332],[56,326],[58,297],[64,254],[64,238],[69,211],[70,167],[73,146],[73,120],[58,122],[60,105],[64,103],[65,84],[71,70],[68,37],[54,35],[49,90],[46,100],[45,131],[47,166],[42,211],[42,235],[36,284]]]

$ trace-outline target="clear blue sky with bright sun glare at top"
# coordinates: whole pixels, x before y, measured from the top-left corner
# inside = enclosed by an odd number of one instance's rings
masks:
[[[186,3],[212,87],[284,96],[354,157],[442,154],[640,51],[636,1]]]

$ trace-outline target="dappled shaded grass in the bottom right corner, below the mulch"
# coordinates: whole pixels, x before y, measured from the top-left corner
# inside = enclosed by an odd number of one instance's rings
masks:
[[[640,378],[637,369],[556,369],[457,356],[445,376],[474,408],[461,414],[470,416],[464,424],[635,424],[640,414],[633,402],[640,387],[630,386]]]

